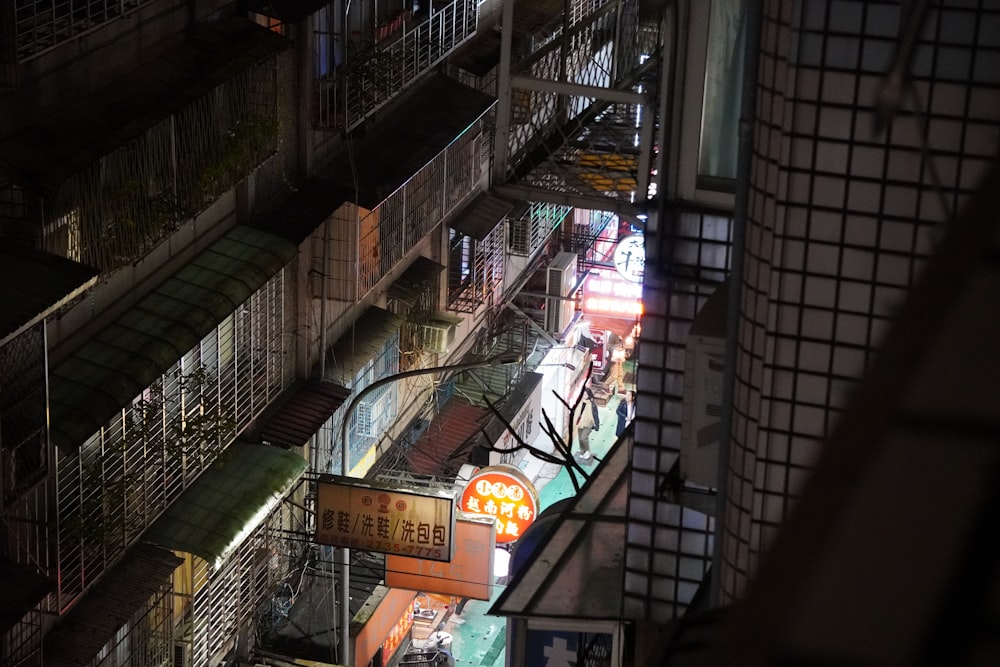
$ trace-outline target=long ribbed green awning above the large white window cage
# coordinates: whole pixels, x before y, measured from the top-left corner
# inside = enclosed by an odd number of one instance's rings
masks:
[[[76,450],[295,257],[236,227],[86,342],[51,375],[51,436]]]

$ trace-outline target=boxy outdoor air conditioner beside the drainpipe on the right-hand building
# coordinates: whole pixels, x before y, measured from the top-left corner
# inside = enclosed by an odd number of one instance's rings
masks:
[[[713,489],[719,487],[728,291],[721,285],[698,311],[684,355],[681,477]]]

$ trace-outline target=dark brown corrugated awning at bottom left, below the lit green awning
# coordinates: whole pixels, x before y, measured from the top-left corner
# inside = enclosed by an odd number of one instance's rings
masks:
[[[184,561],[166,549],[137,544],[45,638],[46,667],[93,663],[108,641]]]

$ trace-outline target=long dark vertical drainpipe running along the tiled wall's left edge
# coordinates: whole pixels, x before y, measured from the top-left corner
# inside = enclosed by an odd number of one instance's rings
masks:
[[[743,290],[743,250],[746,246],[747,208],[750,200],[750,168],[753,164],[753,128],[757,109],[757,61],[760,46],[762,9],[755,3],[743,5],[746,14],[746,61],[743,64],[743,95],[740,104],[739,152],[736,165],[736,192],[733,210],[732,266],[729,271],[729,294],[726,312],[725,367],[722,381],[722,429],[719,437],[718,495],[715,511],[715,541],[712,546],[712,572],[709,582],[709,606],[719,606],[722,564],[722,530],[729,500],[727,480],[733,439],[733,398],[736,391],[737,333],[740,324],[740,296]]]

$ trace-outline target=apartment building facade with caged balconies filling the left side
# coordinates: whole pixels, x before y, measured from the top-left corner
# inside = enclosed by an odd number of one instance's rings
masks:
[[[482,204],[494,98],[435,73],[479,3],[350,5],[0,10],[2,664],[249,658],[303,479],[363,476],[432,387],[347,399],[489,351],[513,206],[442,222]]]

